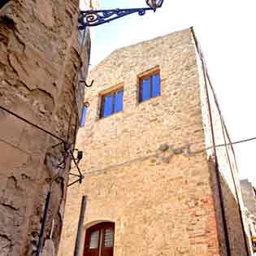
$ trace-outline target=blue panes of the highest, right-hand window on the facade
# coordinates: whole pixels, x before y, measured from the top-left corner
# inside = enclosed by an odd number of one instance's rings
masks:
[[[150,98],[160,95],[160,72],[153,72],[139,78],[139,102],[144,102]]]

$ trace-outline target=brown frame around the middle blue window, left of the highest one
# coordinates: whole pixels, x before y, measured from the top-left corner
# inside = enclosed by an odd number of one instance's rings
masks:
[[[123,90],[124,91],[124,82],[122,83],[119,83],[115,86],[112,86],[111,88],[109,89],[106,89],[104,91],[102,91],[101,93],[99,93],[99,102],[98,102],[98,119],[105,119],[109,116],[112,116],[112,115],[115,115],[115,114],[118,114],[118,113],[121,113],[124,111],[124,94],[123,94],[123,109],[122,111],[117,111],[117,112],[114,112],[112,113],[111,115],[107,115],[107,116],[102,116],[102,106],[103,106],[103,100],[104,98],[108,95],[108,94],[111,94],[111,93],[115,93],[115,92],[118,92],[118,91],[121,91]]]

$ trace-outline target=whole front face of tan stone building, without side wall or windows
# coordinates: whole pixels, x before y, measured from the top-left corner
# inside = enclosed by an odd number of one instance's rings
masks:
[[[137,76],[154,67],[160,70],[161,96],[138,104]],[[83,195],[85,228],[115,222],[115,256],[225,255],[203,150],[190,30],[116,50],[93,68],[90,79],[95,83],[85,94],[86,125],[77,139],[85,152],[85,183],[68,189],[59,255],[73,254]],[[101,93],[119,86],[124,111],[99,119]]]

